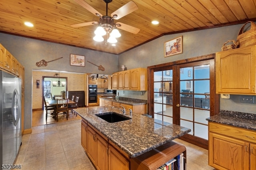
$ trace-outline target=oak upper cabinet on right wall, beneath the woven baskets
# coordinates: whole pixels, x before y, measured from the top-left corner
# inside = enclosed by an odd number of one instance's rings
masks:
[[[255,95],[256,45],[216,53],[216,93]]]

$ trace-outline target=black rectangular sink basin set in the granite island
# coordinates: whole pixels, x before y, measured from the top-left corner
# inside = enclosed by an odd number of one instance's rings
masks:
[[[99,114],[96,114],[96,116],[100,117],[101,119],[109,123],[115,123],[115,122],[126,121],[131,119],[130,117],[126,117],[116,112],[99,113]]]

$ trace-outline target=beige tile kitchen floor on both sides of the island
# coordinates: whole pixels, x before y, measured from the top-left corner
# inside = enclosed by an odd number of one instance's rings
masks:
[[[187,170],[214,170],[208,166],[208,150],[179,139],[187,149]],[[96,170],[81,146],[81,120],[32,127],[22,136],[15,164],[23,170]]]

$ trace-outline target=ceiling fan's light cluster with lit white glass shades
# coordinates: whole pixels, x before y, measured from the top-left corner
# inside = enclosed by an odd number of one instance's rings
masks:
[[[116,18],[117,16],[113,16],[112,18],[109,16],[102,16],[100,17],[100,23],[99,26],[96,28],[94,31],[94,38],[93,40],[96,42],[103,42],[105,37],[106,43],[116,43],[117,40],[116,38],[119,38],[121,36],[120,32],[118,29],[116,29],[116,25],[113,19]]]

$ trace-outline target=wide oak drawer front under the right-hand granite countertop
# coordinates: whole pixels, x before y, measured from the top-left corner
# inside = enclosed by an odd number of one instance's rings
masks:
[[[209,122],[209,131],[256,143],[256,131]]]

